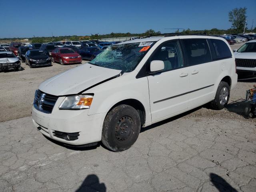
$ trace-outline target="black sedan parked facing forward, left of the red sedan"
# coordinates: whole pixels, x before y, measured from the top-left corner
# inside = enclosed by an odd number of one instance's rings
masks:
[[[40,49],[28,50],[25,55],[25,63],[30,68],[52,65],[51,58]]]

